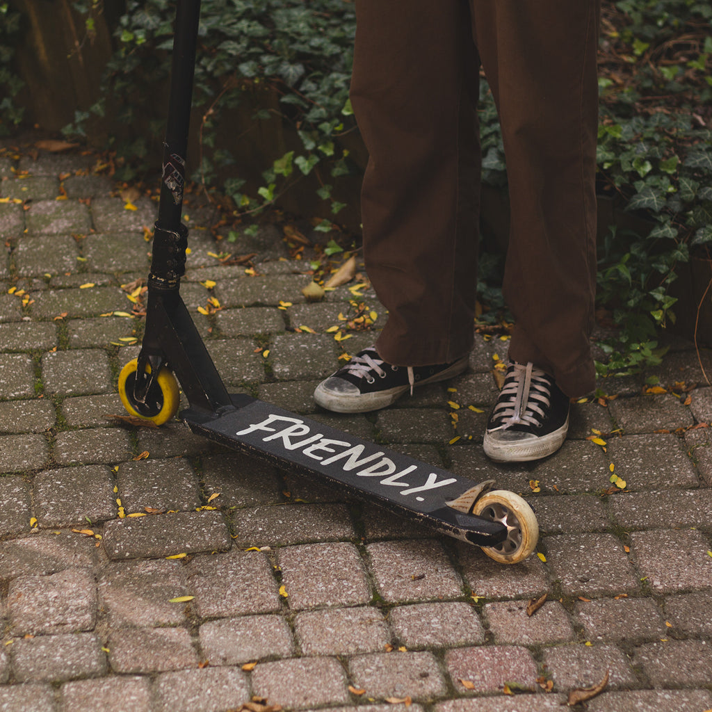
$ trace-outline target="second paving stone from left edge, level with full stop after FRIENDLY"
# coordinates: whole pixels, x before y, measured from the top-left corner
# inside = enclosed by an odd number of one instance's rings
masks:
[[[111,519],[117,506],[108,467],[85,465],[47,470],[35,478],[35,510],[41,527],[86,526]]]

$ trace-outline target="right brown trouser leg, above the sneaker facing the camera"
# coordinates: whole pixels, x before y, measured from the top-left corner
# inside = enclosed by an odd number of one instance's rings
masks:
[[[500,113],[511,201],[510,356],[590,391],[596,281],[599,0],[471,0]]]

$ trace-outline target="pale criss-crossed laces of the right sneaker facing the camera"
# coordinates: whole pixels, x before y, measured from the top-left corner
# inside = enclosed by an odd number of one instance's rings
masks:
[[[519,424],[538,427],[550,404],[550,377],[531,362],[527,365],[513,363],[497,399],[493,419],[502,429]]]

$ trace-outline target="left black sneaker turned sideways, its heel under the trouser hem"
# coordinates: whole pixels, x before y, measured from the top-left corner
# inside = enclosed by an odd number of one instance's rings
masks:
[[[314,400],[337,413],[365,413],[385,408],[407,390],[426,383],[444,381],[467,368],[468,357],[437,366],[392,366],[375,347],[357,353],[347,365],[322,381]]]

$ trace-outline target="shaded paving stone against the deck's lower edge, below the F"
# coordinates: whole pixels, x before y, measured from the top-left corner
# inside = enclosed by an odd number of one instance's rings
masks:
[[[281,501],[278,470],[240,453],[204,456],[201,481],[206,496],[220,493],[219,503],[224,510]]]

